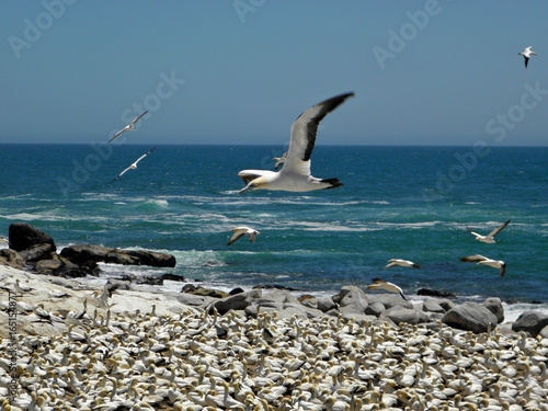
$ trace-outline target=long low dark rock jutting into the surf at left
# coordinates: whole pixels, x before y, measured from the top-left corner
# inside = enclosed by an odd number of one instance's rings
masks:
[[[157,267],[174,267],[175,256],[167,253],[109,249],[100,246],[70,246],[62,249],[60,255],[76,264],[88,262],[125,265],[149,265]]]

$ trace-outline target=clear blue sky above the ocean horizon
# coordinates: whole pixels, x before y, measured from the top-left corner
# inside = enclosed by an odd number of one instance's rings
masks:
[[[546,146],[548,2],[2,1],[0,141]],[[527,69],[517,56],[533,46]]]

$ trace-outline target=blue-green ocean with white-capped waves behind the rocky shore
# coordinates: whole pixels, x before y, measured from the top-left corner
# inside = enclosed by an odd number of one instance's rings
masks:
[[[411,300],[432,288],[460,300],[499,297],[514,315],[548,312],[548,148],[317,146],[312,175],[343,186],[238,194],[240,170],[274,170],[287,147],[160,145],[113,184],[153,145],[0,147],[0,236],[26,221],[58,249],[102,244],[178,261],[174,269],[102,264],[103,276],[173,273],[225,290],[276,285],[312,295],[379,277]],[[507,219],[496,244],[466,230],[487,235]],[[262,233],[228,247],[236,226]],[[459,261],[471,254],[505,261],[505,276]],[[381,271],[395,258],[422,267]]]

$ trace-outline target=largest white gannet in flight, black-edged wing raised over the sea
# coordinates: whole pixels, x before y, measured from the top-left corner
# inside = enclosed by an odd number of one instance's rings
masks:
[[[335,110],[354,93],[341,94],[313,105],[304,112],[292,125],[289,150],[282,170],[242,170],[238,175],[248,185],[239,191],[275,190],[309,192],[335,189],[343,185],[338,179],[317,179],[310,175],[310,156],[316,142],[318,125],[326,115]]]

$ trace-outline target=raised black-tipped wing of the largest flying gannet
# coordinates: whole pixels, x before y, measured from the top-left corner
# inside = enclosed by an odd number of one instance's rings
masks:
[[[292,137],[287,159],[281,172],[294,172],[310,175],[310,155],[316,142],[320,122],[354,93],[344,93],[318,103],[301,115],[292,125]]]

